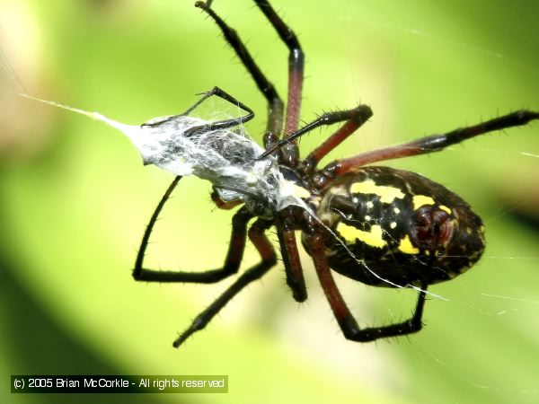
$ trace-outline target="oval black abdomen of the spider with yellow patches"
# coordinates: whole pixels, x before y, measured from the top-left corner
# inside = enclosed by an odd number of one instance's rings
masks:
[[[481,257],[481,218],[455,193],[414,172],[364,167],[340,176],[318,215],[331,228],[326,256],[368,285],[452,279]]]

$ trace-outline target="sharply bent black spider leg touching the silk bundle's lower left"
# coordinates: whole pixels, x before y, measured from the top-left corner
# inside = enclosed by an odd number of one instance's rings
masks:
[[[154,214],[150,218],[150,222],[146,226],[146,231],[142,237],[142,242],[135,261],[133,269],[133,277],[137,281],[146,282],[190,282],[209,284],[215,283],[228,277],[238,271],[243,259],[243,250],[245,249],[245,238],[247,233],[247,223],[252,219],[252,214],[245,207],[238,210],[232,218],[232,234],[230,236],[230,244],[225,258],[225,264],[222,268],[210,269],[204,272],[177,272],[177,271],[161,271],[155,269],[146,269],[143,267],[146,247],[148,245],[150,234],[154,230],[155,222],[158,215],[161,213],[164,204],[170,198],[172,190],[181,180],[181,176],[177,176],[169,188],[159,201]]]

